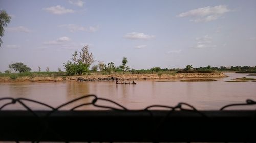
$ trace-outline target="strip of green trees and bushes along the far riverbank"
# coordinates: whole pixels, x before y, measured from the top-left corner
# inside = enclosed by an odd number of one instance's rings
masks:
[[[179,68],[160,68],[153,67],[151,69],[131,69],[128,64],[128,58],[123,57],[122,65],[115,66],[114,62],[109,62],[105,64],[103,61],[98,61],[97,65],[92,65],[96,61],[93,58],[93,54],[89,52],[89,47],[84,46],[80,52],[75,51],[71,56],[71,61],[63,63],[65,72],[58,68],[58,72],[50,72],[49,67],[46,67],[46,72],[41,72],[41,67],[38,66],[38,72],[30,72],[31,68],[22,62],[12,63],[9,65],[9,69],[5,73],[0,72],[0,77],[7,76],[15,79],[17,77],[29,76],[29,77],[58,77],[58,76],[70,76],[70,75],[120,75],[120,74],[157,74],[161,76],[162,74],[175,75],[176,73],[218,73],[222,71],[230,70],[255,70],[256,67],[249,66],[236,66],[236,67],[199,67],[193,68],[192,65],[187,65],[184,69]],[[91,67],[91,70],[89,69]],[[13,73],[16,72],[16,73]],[[19,72],[19,73],[17,73]]]

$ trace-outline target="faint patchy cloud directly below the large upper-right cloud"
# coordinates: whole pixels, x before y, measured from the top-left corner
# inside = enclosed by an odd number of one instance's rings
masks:
[[[212,45],[212,37],[208,35],[196,38],[196,41],[197,41],[197,44],[196,46],[194,46],[194,48],[197,48],[197,49],[216,47],[216,45]]]

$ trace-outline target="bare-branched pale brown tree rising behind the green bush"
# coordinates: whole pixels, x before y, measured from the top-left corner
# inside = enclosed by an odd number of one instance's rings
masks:
[[[76,63],[82,62],[83,64],[86,65],[91,65],[95,60],[93,60],[93,54],[89,53],[88,51],[88,46],[84,46],[81,50],[79,58],[78,58],[78,52],[75,51],[74,54],[72,54],[72,60],[75,61]]]

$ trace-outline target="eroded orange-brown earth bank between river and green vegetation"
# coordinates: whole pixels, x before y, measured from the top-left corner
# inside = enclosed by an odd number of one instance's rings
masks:
[[[60,77],[0,77],[0,82],[60,82],[60,81],[112,81],[119,80],[147,80],[147,79],[172,79],[172,78],[216,78],[227,77],[223,73],[177,73],[177,74],[123,74],[123,75],[82,75]]]

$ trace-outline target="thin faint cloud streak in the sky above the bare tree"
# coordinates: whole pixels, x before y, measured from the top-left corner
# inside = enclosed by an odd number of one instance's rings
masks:
[[[96,27],[90,26],[89,28],[86,28],[83,26],[75,25],[75,24],[63,24],[63,25],[59,25],[58,27],[67,28],[70,32],[75,32],[75,31],[96,32],[99,30],[99,26],[96,26]]]

